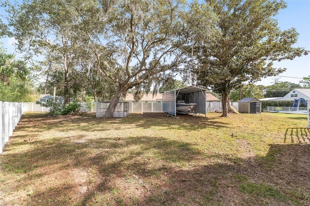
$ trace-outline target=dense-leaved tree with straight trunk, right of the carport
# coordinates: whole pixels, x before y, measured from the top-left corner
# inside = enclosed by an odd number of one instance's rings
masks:
[[[293,46],[298,38],[296,29],[281,30],[273,18],[286,7],[283,0],[206,2],[218,17],[221,34],[216,41],[195,48],[201,66],[194,73],[199,85],[222,94],[222,116],[227,117],[227,97],[232,89],[280,74],[285,69],[275,68],[273,61],[294,59],[308,51]]]

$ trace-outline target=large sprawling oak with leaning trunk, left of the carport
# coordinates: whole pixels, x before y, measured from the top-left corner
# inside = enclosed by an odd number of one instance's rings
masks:
[[[155,83],[156,90],[167,71],[187,61],[186,12],[185,0],[120,0],[104,17],[84,18],[88,30],[96,31],[87,35],[98,69],[116,88],[106,118],[128,89]]]

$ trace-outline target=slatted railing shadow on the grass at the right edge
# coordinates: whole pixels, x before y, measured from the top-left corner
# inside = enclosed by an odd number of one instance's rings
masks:
[[[287,128],[284,134],[284,143],[305,144],[310,143],[310,131],[308,128]]]

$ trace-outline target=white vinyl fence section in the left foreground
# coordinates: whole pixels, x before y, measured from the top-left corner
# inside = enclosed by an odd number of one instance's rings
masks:
[[[23,114],[23,103],[8,103],[0,101],[0,153],[9,137],[13,135],[13,130]]]

